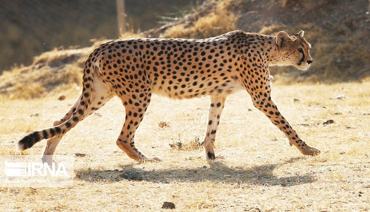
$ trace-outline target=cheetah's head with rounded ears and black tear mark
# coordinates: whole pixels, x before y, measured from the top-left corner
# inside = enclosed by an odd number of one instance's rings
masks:
[[[286,32],[279,32],[276,35],[276,44],[279,49],[279,62],[277,65],[292,65],[300,70],[307,70],[313,62],[310,55],[311,44],[303,37],[301,30],[294,36]]]

